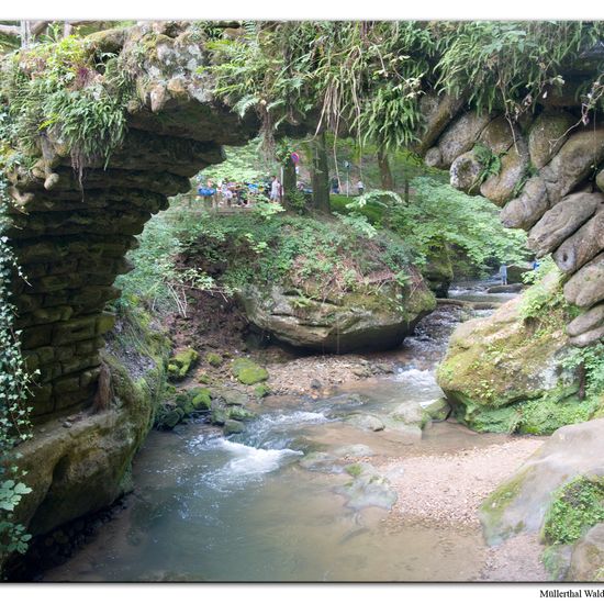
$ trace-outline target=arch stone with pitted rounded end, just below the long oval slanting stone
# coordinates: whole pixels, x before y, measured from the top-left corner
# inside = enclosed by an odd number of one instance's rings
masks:
[[[592,194],[601,198],[601,211],[568,237],[553,254],[558,268],[564,272],[577,272],[604,249],[604,195]]]

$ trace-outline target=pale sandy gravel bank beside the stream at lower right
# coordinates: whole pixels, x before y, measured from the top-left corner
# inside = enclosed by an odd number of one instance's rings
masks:
[[[478,508],[482,501],[543,441],[541,438],[518,437],[501,445],[450,455],[384,460],[379,470],[389,478],[399,495],[392,519],[480,527]],[[500,546],[485,547],[485,562],[477,580],[547,582],[549,578],[540,562],[543,549],[537,535],[527,534],[510,538]]]

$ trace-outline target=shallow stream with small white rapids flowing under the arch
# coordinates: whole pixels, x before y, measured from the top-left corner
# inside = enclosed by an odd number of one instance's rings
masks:
[[[407,457],[510,437],[451,422],[434,423],[418,437],[404,426],[372,432],[346,421],[388,417],[394,407],[440,396],[434,369],[459,314],[439,306],[426,318],[393,353],[395,373],[344,384],[328,399],[268,398],[243,434],[225,438],[201,422],[153,432],[135,460],[128,505],[43,579],[476,580],[486,556],[479,527],[401,522],[390,512],[396,494],[389,477],[356,474],[377,459],[400,459],[404,472]],[[353,461],[356,470],[347,470]]]

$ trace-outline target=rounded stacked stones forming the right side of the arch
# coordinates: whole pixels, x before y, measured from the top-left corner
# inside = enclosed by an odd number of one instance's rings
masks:
[[[502,208],[504,225],[527,231],[537,257],[553,254],[569,278],[567,300],[591,317],[569,329],[571,343],[585,346],[604,336],[604,126],[584,124],[573,97],[558,101],[521,127],[433,96],[423,102],[426,130],[417,149],[426,164],[449,168],[454,187]],[[499,158],[499,174],[481,178],[478,145]]]

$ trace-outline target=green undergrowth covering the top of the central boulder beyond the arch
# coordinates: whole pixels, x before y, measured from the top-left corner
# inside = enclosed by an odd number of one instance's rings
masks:
[[[409,279],[407,247],[362,216],[206,214],[184,245],[231,292],[247,283],[287,279],[292,287],[326,297],[370,287],[367,277],[379,271],[401,283]]]

